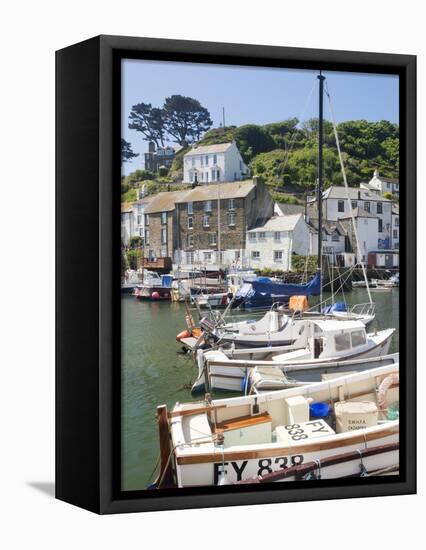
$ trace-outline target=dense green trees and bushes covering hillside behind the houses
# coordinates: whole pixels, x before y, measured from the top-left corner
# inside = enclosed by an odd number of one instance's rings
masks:
[[[259,126],[227,126],[206,132],[199,145],[235,140],[252,174],[282,191],[313,188],[317,177],[318,120],[301,125],[296,118]],[[352,120],[337,127],[350,185],[381,175],[398,177],[399,127],[388,121]],[[176,167],[177,168],[177,167]],[[333,127],[324,121],[324,183],[342,184]]]

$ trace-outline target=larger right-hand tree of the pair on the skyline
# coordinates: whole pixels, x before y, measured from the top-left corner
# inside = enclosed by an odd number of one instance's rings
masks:
[[[209,111],[192,97],[167,97],[163,112],[167,133],[182,147],[199,140],[213,124]]]

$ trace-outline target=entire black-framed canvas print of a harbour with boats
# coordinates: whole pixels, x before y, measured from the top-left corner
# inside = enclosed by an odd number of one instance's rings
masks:
[[[415,57],[56,59],[57,498],[415,492]]]

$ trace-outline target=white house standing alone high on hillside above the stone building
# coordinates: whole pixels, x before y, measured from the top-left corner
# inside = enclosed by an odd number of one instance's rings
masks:
[[[183,157],[184,183],[237,181],[249,175],[235,141],[194,145]]]

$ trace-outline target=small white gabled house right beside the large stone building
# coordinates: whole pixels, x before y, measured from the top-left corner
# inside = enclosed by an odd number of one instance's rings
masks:
[[[303,214],[275,216],[247,232],[246,256],[252,268],[291,270],[291,254],[310,254],[311,238]]]

